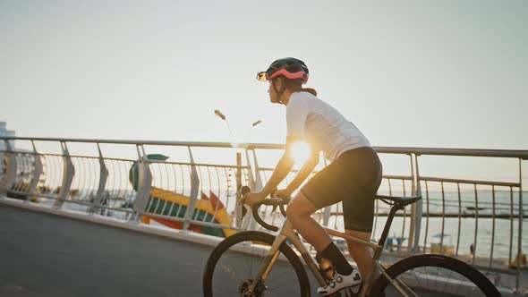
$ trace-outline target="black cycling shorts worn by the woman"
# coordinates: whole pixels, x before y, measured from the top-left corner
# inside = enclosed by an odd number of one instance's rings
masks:
[[[372,232],[382,166],[372,148],[354,148],[315,174],[302,194],[318,209],[343,201],[345,229]]]

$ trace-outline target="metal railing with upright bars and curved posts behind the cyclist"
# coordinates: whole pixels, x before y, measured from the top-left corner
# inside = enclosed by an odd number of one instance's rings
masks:
[[[13,140],[17,149],[13,148]],[[233,148],[230,143],[184,141],[0,141],[4,142],[4,149],[0,149],[0,194],[131,222],[154,220],[186,232],[217,236],[257,227],[251,224],[250,216],[244,221],[239,218],[236,201],[240,187],[248,184],[260,190],[273,170],[271,165],[260,163],[268,159],[273,164],[284,148],[279,144]],[[58,149],[41,149],[47,144]],[[448,254],[475,267],[515,275],[515,287],[519,287],[522,263],[517,256],[528,249],[523,237],[523,162],[528,159],[527,150],[375,149],[384,165],[379,193],[423,198],[395,218],[388,254]],[[276,157],[263,157],[269,152],[275,152]],[[160,153],[169,155],[170,161],[153,157]],[[395,166],[385,161],[392,156],[400,159]],[[421,173],[429,174],[431,167],[428,157],[442,157],[452,163],[459,157],[471,157],[476,163],[494,159],[513,163],[514,169],[506,171],[510,174],[508,181],[472,176],[463,179],[448,174],[425,176]],[[294,174],[295,170],[282,185]],[[277,211],[262,211],[271,223],[280,223],[282,217]],[[319,210],[314,218],[322,225],[343,229],[342,211],[339,203]],[[373,240],[379,238],[387,213],[388,206],[376,201]]]

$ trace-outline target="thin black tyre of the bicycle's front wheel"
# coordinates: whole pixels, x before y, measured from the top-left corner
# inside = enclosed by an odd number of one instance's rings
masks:
[[[213,277],[215,276],[215,271],[217,271],[218,269],[218,261],[222,259],[223,256],[226,255],[227,251],[229,250],[233,251],[234,249],[232,248],[234,247],[234,245],[239,244],[241,242],[251,242],[251,244],[253,245],[255,242],[261,242],[261,243],[264,243],[270,246],[274,241],[275,241],[275,236],[269,233],[263,233],[259,231],[244,231],[240,233],[235,233],[234,235],[227,237],[223,242],[220,242],[217,245],[217,247],[211,252],[209,259],[207,261],[207,264],[205,266],[205,269],[204,269],[204,274],[203,274],[203,279],[202,279],[204,296],[205,297],[219,297],[219,296],[226,295],[223,293],[213,293],[214,290],[218,289],[218,288],[213,287],[214,286]],[[250,243],[248,244],[251,245]],[[279,247],[279,251],[285,256],[285,258],[291,264],[291,266],[293,267],[295,271],[295,276],[299,283],[299,293],[300,293],[299,296],[301,297],[310,296],[310,281],[308,279],[308,275],[306,274],[306,270],[304,266],[302,265],[302,262],[297,256],[297,254],[286,243],[283,243]],[[236,253],[237,251],[233,251],[233,252]],[[251,256],[248,256],[247,254],[244,254],[244,255],[237,254],[234,256],[238,258],[251,257]],[[229,263],[233,263],[233,262],[234,261],[230,261]],[[277,267],[277,263],[276,263],[276,267]],[[272,268],[272,271],[271,271],[272,273],[276,267]],[[229,269],[225,269],[224,267],[220,268],[220,270],[222,269],[229,271]],[[252,276],[245,276],[245,277],[252,277]],[[241,292],[243,289],[244,282],[247,282],[248,279],[245,279],[245,280],[242,279],[242,281],[243,281],[242,283],[239,282],[235,286],[233,286],[234,291]],[[221,284],[225,284],[225,283],[223,282]],[[268,285],[268,283],[265,285]],[[287,285],[292,286],[294,284],[288,283]],[[267,291],[264,291],[264,292],[267,292]],[[255,296],[263,296],[263,295],[267,295],[267,294],[266,293],[255,293]],[[276,296],[277,294],[274,291],[271,295]]]

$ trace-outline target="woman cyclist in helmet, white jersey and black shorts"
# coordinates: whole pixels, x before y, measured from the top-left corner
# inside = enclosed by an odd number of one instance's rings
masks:
[[[302,237],[318,250],[319,259],[328,259],[335,267],[332,280],[318,293],[328,295],[346,287],[357,293],[372,261],[372,250],[348,243],[348,250],[358,265],[352,267],[330,239],[328,233],[311,218],[320,208],[343,201],[345,232],[370,240],[374,196],[381,182],[381,163],[370,142],[353,123],[334,107],[317,98],[315,89],[303,89],[308,81],[308,67],[301,60],[284,58],[273,62],[266,72],[257,73],[259,81],[269,81],[269,99],[286,106],[287,137],[285,153],[259,192],[243,196],[240,203],[250,206],[265,199],[277,188],[294,165],[292,145],[303,140],[311,147],[294,180],[278,197],[290,197],[319,164],[319,151],[331,162],[298,191],[287,208],[288,219]]]

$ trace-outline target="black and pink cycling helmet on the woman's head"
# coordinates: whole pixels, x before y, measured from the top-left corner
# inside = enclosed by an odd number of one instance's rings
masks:
[[[308,81],[308,67],[306,64],[299,59],[295,58],[283,58],[274,61],[269,65],[268,70],[265,72],[257,73],[257,80],[269,81],[277,76],[283,75],[289,80],[301,80],[302,83]]]

